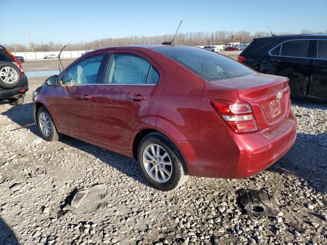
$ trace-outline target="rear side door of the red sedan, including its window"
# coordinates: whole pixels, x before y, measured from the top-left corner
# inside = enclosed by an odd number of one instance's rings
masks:
[[[106,74],[94,97],[98,142],[127,150],[165,82],[164,70],[147,55],[131,50],[110,51]]]

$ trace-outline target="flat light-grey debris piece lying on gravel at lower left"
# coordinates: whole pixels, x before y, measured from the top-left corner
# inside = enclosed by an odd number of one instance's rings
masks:
[[[62,210],[71,210],[75,213],[97,212],[106,209],[107,186],[104,184],[78,189],[69,204]]]

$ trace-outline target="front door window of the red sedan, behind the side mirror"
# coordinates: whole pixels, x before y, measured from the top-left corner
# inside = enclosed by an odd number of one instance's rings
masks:
[[[104,55],[96,55],[81,60],[66,71],[63,84],[95,84]]]

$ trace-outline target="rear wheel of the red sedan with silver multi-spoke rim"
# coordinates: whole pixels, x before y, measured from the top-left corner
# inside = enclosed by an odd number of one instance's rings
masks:
[[[155,155],[159,157],[153,160],[149,154],[154,158]],[[164,159],[161,159],[161,156]],[[152,160],[153,162],[149,163]],[[154,162],[156,163],[154,164]],[[138,146],[138,163],[144,177],[158,190],[169,191],[178,188],[189,178],[183,158],[176,146],[160,133],[148,134],[141,140]],[[167,173],[170,173],[170,177]],[[162,174],[165,177],[162,177]],[[166,180],[164,180],[165,178]]]

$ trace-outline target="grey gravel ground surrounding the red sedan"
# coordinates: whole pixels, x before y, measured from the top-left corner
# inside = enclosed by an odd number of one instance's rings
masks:
[[[44,78],[29,81],[24,105],[0,102],[0,244],[327,244],[325,104],[293,102],[297,140],[263,173],[160,192],[128,157],[70,137],[36,142],[37,127],[22,126],[33,123],[31,92]],[[69,193],[97,183],[108,186],[106,210],[62,215]],[[274,193],[278,216],[245,215],[237,193],[246,188]]]

